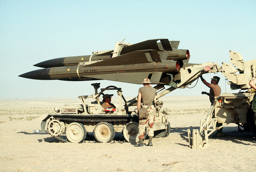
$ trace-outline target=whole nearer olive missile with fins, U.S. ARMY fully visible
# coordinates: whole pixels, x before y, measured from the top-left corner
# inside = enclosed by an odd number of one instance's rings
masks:
[[[170,84],[168,74],[176,74],[180,63],[167,59],[168,51],[159,55],[157,50],[137,50],[94,63],[34,70],[20,77],[66,81],[112,80],[134,84],[141,84],[143,78],[150,78],[154,84]]]

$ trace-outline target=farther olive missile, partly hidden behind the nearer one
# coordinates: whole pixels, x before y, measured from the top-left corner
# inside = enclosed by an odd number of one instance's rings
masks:
[[[168,58],[166,58],[166,60],[179,61],[182,67],[182,64],[188,62],[188,59],[190,58],[190,53],[189,50],[177,49],[178,44],[179,41],[169,41],[168,39],[146,40],[136,44],[117,42],[114,50],[92,52],[91,55],[85,56],[54,58],[51,60],[46,60],[44,62],[34,64],[34,66],[41,68],[77,66],[79,63],[83,62],[94,63],[102,60],[108,60],[114,57],[113,54],[117,54],[116,56],[118,57],[120,55],[128,54],[130,52],[135,52],[138,50],[157,50],[159,55],[163,52],[168,51]],[[172,46],[174,48],[172,48]]]

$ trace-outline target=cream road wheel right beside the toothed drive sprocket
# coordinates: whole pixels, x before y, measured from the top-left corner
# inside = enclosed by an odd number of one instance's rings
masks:
[[[86,137],[86,129],[83,124],[72,122],[68,125],[66,136],[68,141],[72,143],[80,143],[84,141]]]

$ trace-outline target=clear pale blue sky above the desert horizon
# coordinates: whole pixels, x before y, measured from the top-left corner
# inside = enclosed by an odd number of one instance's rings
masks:
[[[256,58],[255,0],[0,1],[0,98],[77,97],[94,93],[90,82],[30,80],[18,75],[52,58],[112,50],[115,42],[180,40],[191,63],[229,62],[229,50]],[[230,92],[221,73],[222,93]],[[205,74],[210,82],[214,74]],[[100,81],[136,96],[141,85]],[[195,83],[192,84],[194,86]],[[201,81],[172,95],[201,95]]]

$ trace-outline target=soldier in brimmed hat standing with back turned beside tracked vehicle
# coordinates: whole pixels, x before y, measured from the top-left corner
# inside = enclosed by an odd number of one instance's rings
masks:
[[[154,136],[153,125],[154,125],[155,116],[156,116],[154,98],[156,97],[156,89],[150,86],[151,83],[152,82],[150,82],[148,78],[145,78],[142,82],[143,87],[139,88],[137,109],[138,110],[140,109],[141,102],[142,102],[143,108],[147,108],[150,104],[151,106],[148,107],[148,114],[149,114],[148,118],[139,120],[140,141],[135,145],[136,147],[143,146],[143,139],[144,139],[145,128],[147,123],[149,125],[149,132],[148,132],[149,140],[148,140],[147,146],[153,146],[152,144],[152,138]]]

